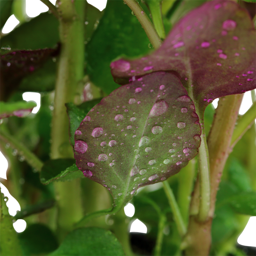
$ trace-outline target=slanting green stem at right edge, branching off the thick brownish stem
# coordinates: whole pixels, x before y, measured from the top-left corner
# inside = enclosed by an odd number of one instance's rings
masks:
[[[234,129],[234,133],[230,142],[231,148],[234,148],[235,144],[242,138],[246,131],[255,123],[256,118],[256,102],[252,103],[252,106],[247,110],[245,114],[238,117],[237,125]]]

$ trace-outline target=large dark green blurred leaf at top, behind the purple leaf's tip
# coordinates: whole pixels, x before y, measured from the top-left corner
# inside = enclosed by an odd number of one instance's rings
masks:
[[[148,45],[149,39],[129,7],[120,0],[107,0],[98,28],[86,45],[90,80],[110,94],[119,87],[110,73],[111,61],[121,54],[128,57],[146,54],[150,50]]]

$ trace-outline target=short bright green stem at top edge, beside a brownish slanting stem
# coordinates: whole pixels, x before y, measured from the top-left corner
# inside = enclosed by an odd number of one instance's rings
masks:
[[[165,29],[164,29],[162,12],[161,12],[161,1],[151,0],[148,2],[148,6],[152,15],[152,20],[153,20],[156,32],[158,33],[160,38],[165,39]]]

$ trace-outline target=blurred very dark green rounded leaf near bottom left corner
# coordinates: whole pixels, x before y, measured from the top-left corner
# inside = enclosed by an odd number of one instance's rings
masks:
[[[53,232],[45,225],[32,224],[18,234],[22,249],[26,256],[49,253],[58,248],[58,241]]]

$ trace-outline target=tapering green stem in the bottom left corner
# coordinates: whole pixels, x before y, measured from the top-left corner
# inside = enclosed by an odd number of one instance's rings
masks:
[[[0,252],[1,256],[22,256],[20,242],[12,218],[0,190]]]

